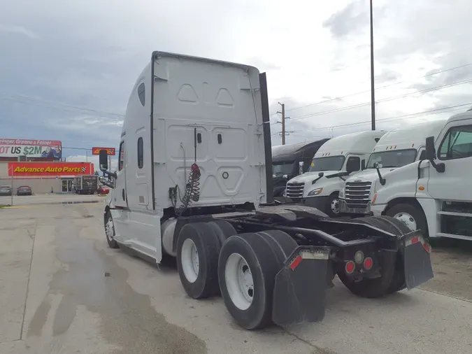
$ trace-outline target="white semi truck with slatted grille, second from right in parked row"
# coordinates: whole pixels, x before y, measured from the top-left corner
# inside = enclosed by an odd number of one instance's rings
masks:
[[[437,137],[445,120],[403,125],[387,132],[372,150],[366,169],[346,180],[339,192],[339,210],[345,215],[371,215],[371,201],[394,169],[425,160],[425,141]],[[382,180],[380,180],[380,177]]]

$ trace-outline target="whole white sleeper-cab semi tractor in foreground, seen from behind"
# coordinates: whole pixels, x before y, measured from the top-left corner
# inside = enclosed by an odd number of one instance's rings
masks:
[[[255,67],[153,52],[129,97],[117,172],[105,150],[99,158],[115,180],[108,245],[157,264],[176,257],[187,295],[221,295],[247,330],[322,320],[336,274],[360,297],[433,276],[429,244],[398,220],[341,222],[273,200],[266,75]]]

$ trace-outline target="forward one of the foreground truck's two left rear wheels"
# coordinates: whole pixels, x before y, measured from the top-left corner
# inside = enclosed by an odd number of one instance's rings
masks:
[[[177,269],[185,292],[194,299],[218,295],[220,239],[206,222],[185,225],[177,240]]]

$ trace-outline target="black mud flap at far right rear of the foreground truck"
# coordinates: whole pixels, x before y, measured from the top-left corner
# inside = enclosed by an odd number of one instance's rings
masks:
[[[431,246],[423,238],[421,232],[415,231],[405,235],[403,261],[408,290],[416,288],[434,277],[430,253]]]

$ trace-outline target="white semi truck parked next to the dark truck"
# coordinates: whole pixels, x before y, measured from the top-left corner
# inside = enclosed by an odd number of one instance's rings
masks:
[[[368,131],[336,136],[315,153],[308,172],[287,182],[286,197],[318,208],[331,217],[340,215],[338,194],[346,176],[365,167],[372,149],[385,132]]]

